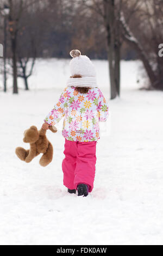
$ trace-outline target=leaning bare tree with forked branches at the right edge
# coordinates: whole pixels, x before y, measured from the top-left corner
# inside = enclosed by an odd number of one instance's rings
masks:
[[[163,2],[139,0],[137,3],[139,8],[134,9],[126,5],[126,14],[121,11],[123,38],[136,50],[142,60],[150,81],[149,88],[163,89],[163,60],[158,54],[158,46],[163,41]],[[132,16],[133,24],[129,22],[128,13]]]

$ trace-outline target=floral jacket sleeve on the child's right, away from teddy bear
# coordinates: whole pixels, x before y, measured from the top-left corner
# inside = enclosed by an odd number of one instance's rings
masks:
[[[97,111],[99,115],[99,121],[106,121],[109,115],[109,105],[108,102],[105,100],[105,97],[100,89],[98,89],[99,96],[98,96],[98,106]]]

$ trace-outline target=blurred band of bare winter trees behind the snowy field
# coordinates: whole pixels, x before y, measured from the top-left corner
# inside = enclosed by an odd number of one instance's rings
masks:
[[[140,59],[146,88],[163,90],[162,0],[1,0],[0,15],[4,77],[11,72],[14,93],[17,77],[28,89],[37,57],[69,58],[76,48],[90,58],[108,59],[111,99],[120,95],[121,59]]]

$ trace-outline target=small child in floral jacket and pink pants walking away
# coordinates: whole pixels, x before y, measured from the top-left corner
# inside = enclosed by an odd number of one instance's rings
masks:
[[[108,103],[96,83],[91,60],[79,50],[70,52],[71,77],[59,101],[45,118],[42,129],[55,125],[65,117],[65,159],[62,161],[64,185],[69,193],[87,196],[93,189],[96,165],[96,143],[99,121],[108,117]]]

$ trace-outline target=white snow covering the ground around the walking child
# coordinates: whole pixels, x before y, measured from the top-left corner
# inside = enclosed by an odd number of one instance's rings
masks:
[[[109,99],[108,65],[94,61]],[[110,118],[97,143],[95,188],[86,197],[62,185],[64,138],[47,132],[54,146],[48,167],[15,155],[23,131],[41,127],[68,78],[68,60],[37,60],[30,91],[0,92],[1,245],[162,245],[163,93],[137,90],[140,62],[122,62],[121,99],[110,101]],[[2,87],[2,80],[0,80]],[[19,86],[23,88],[22,81]]]

